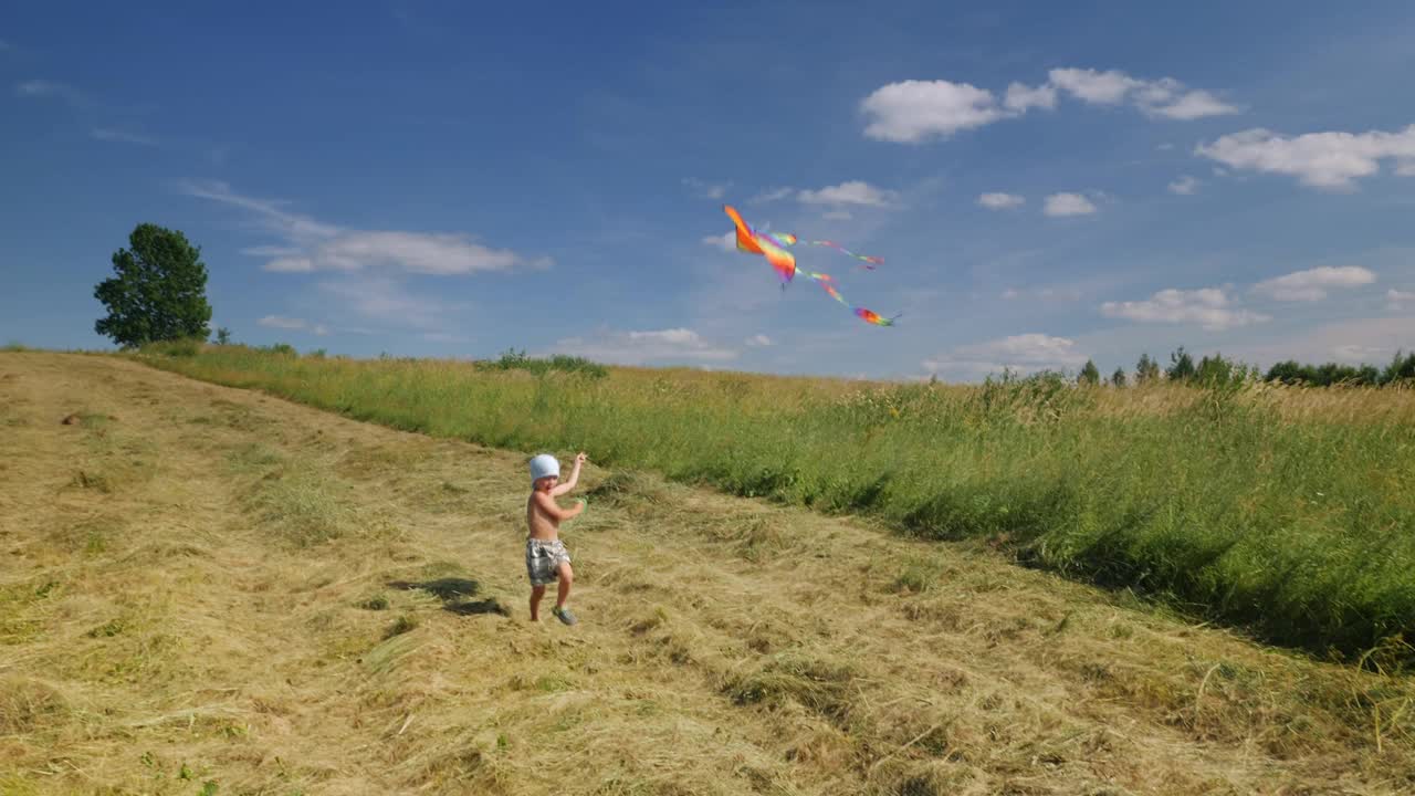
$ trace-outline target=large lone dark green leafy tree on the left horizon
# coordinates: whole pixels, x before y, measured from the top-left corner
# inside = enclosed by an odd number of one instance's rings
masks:
[[[211,334],[207,266],[201,249],[180,231],[139,224],[129,249],[113,254],[117,276],[99,282],[93,297],[108,307],[93,330],[123,347]]]

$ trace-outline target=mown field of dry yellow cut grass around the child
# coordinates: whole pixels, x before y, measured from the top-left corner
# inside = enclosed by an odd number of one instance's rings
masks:
[[[0,406],[0,793],[1415,789],[1398,654],[593,466],[536,626],[521,455],[98,357]]]

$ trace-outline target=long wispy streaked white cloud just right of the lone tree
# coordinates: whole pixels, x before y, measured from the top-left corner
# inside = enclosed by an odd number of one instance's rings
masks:
[[[290,245],[249,251],[279,251],[265,265],[275,272],[372,271],[464,275],[480,271],[548,268],[546,258],[526,259],[509,249],[491,249],[471,237],[446,232],[345,229],[290,212],[272,200],[235,194],[225,183],[183,183],[178,190],[252,212],[256,224]]]

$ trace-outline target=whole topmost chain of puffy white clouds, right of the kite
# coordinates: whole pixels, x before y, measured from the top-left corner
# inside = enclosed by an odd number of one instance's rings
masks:
[[[896,143],[947,139],[1026,115],[1033,108],[1053,109],[1061,93],[1088,105],[1128,103],[1150,118],[1190,120],[1238,113],[1240,109],[1203,89],[1191,89],[1174,78],[1140,79],[1118,69],[1058,68],[1047,82],[1029,86],[1012,82],[999,99],[971,84],[900,81],[874,89],[860,101],[869,118],[866,137]]]

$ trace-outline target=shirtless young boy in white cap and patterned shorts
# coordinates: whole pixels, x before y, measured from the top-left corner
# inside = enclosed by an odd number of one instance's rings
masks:
[[[531,497],[526,500],[526,574],[531,575],[531,622],[541,620],[541,598],[545,596],[545,586],[550,581],[560,581],[555,601],[555,618],[566,625],[574,625],[574,615],[565,608],[565,598],[570,596],[570,584],[574,582],[574,572],[570,571],[570,554],[560,544],[560,523],[579,517],[584,511],[584,500],[580,500],[569,511],[560,508],[555,501],[580,482],[580,465],[584,463],[584,453],[574,457],[574,469],[570,470],[570,480],[559,483],[560,463],[555,456],[542,453],[531,459]]]

